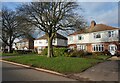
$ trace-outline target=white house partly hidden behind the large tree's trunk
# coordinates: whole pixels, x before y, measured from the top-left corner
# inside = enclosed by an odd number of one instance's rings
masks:
[[[54,47],[67,47],[67,38],[57,33],[53,39],[52,45]],[[34,49],[38,53],[41,53],[42,49],[46,48],[47,46],[48,41],[46,35],[34,40]]]

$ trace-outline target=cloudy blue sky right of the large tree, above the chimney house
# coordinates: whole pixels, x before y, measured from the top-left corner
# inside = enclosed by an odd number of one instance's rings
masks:
[[[116,2],[84,2],[81,6],[85,9],[82,13],[88,24],[91,20],[110,26],[118,26],[118,3]]]

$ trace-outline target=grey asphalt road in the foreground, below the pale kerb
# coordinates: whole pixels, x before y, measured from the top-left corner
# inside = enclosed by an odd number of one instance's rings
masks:
[[[2,81],[75,81],[75,80],[3,62]]]

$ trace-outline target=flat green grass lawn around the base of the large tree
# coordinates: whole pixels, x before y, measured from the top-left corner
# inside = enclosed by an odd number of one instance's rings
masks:
[[[7,58],[5,60],[30,65],[33,67],[40,67],[48,70],[57,71],[60,73],[80,73],[91,66],[104,60],[92,58],[73,58],[73,57],[53,57],[47,58],[46,56],[17,56]]]

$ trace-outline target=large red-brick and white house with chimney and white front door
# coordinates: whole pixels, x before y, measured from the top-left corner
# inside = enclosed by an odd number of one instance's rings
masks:
[[[119,51],[120,28],[92,21],[86,29],[68,35],[68,47],[87,52]]]

